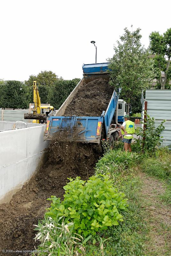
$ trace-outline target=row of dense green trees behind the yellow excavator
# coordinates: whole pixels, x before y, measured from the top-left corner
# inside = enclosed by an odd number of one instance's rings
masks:
[[[80,81],[64,80],[52,71],[31,75],[27,81],[3,81],[0,79],[0,108],[29,108],[33,102],[33,81],[37,82],[41,103],[50,103],[58,109]]]

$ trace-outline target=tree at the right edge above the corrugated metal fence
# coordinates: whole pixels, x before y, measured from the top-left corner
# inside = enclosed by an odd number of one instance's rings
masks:
[[[170,57],[171,57],[171,28],[167,29],[166,33],[160,35],[159,32],[152,32],[150,38],[150,50],[154,57],[154,65],[158,70],[156,79],[160,84],[161,89],[165,89],[171,78]],[[168,58],[166,60],[166,58]],[[164,72],[165,77],[162,80],[161,71]]]

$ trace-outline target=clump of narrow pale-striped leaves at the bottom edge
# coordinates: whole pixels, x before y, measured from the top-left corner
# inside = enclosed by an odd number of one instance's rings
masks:
[[[40,242],[36,248],[37,252],[33,255],[84,255],[85,244],[91,238],[83,239],[81,235],[73,232],[74,223],[66,223],[65,217],[61,216],[53,220],[51,217],[45,217],[44,220],[34,225],[38,233],[35,236],[35,241]]]

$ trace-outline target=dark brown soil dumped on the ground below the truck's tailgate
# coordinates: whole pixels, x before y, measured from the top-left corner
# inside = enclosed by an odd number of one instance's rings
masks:
[[[100,146],[68,141],[56,137],[48,148],[48,161],[22,187],[10,203],[0,205],[0,255],[2,250],[34,250],[34,224],[43,219],[50,206],[46,199],[56,195],[63,199],[63,186],[68,177],[81,176],[86,180],[94,173],[101,154]],[[23,170],[24,172],[25,170]],[[29,255],[8,253],[8,255]]]

